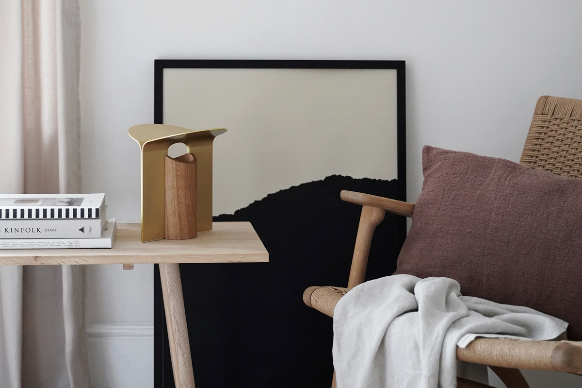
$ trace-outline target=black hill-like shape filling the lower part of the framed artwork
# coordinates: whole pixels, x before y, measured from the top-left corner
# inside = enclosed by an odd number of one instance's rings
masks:
[[[180,265],[197,388],[331,385],[332,319],[308,308],[301,296],[310,285],[347,285],[361,207],[340,200],[340,191],[395,198],[397,186],[396,180],[333,175],[214,217],[251,221],[269,263]],[[386,214],[375,232],[367,278],[393,273],[404,225],[402,217]],[[159,346],[164,315],[158,273],[155,279]],[[164,347],[156,364],[164,365],[165,386],[173,387]]]

